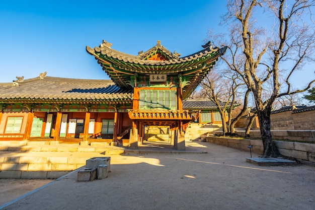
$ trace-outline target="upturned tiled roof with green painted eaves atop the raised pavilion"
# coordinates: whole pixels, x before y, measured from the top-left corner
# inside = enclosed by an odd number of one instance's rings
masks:
[[[122,88],[132,86],[130,77],[150,74],[168,74],[183,77],[183,99],[186,99],[197,88],[207,75],[218,57],[224,54],[226,47],[212,47],[211,43],[202,46],[203,49],[188,56],[179,57],[179,53],[172,53],[160,42],[146,52],[130,55],[111,48],[106,41],[99,47],[87,46],[89,54],[95,56],[98,63],[109,77]],[[148,60],[150,55],[163,52],[167,59]]]

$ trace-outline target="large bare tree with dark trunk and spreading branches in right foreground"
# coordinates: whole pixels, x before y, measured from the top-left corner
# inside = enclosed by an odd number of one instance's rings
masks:
[[[303,89],[293,89],[290,84],[295,71],[314,61],[314,23],[310,19],[310,8],[314,5],[315,1],[306,0],[230,0],[227,3],[228,12],[223,21],[232,29],[234,43],[242,46],[238,53],[244,64],[242,68],[231,69],[243,78],[253,93],[264,157],[280,155],[270,132],[274,101],[304,92],[315,82],[308,82]],[[267,14],[268,19],[259,24],[255,15],[261,14]],[[269,30],[268,20],[273,21]],[[264,24],[266,28],[259,27]]]

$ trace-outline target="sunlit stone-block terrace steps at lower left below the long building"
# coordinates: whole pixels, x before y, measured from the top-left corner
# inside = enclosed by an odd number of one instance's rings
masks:
[[[0,178],[56,179],[85,166],[88,159],[124,153],[123,148],[100,144],[0,141]]]

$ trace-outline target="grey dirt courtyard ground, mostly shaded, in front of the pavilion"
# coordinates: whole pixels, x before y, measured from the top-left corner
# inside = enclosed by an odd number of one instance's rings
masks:
[[[315,167],[256,166],[249,152],[196,147],[208,153],[111,156],[106,179],[72,172],[2,209],[315,209]]]

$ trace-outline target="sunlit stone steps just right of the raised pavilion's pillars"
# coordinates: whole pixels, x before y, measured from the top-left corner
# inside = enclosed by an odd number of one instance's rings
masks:
[[[217,125],[190,123],[186,128],[185,141],[205,142],[207,134],[216,130],[219,131],[222,130],[222,128]]]

